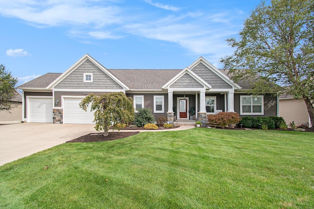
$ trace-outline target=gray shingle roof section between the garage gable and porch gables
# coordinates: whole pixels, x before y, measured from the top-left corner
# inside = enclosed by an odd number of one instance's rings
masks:
[[[161,87],[182,70],[117,70],[108,69],[130,89],[153,90]]]

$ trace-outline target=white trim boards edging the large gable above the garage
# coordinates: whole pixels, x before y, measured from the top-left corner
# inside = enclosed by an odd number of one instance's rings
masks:
[[[117,82],[120,86],[122,86],[125,90],[130,90],[128,86],[122,83],[117,77],[115,77],[112,73],[110,73],[103,65],[97,62],[94,58],[92,58],[89,54],[85,54],[82,56],[73,66],[71,66],[68,70],[63,72],[61,76],[55,79],[47,89],[52,89],[55,85],[60,83],[64,78],[66,78],[71,72],[76,70],[82,63],[86,60],[91,61],[95,66],[97,66],[100,70],[103,70],[110,78],[112,78],[115,82]]]

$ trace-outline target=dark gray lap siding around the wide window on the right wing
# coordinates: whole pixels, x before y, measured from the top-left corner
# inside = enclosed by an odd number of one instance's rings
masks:
[[[240,95],[250,95],[247,93],[235,93],[235,112],[240,114]],[[272,96],[270,93],[264,94],[264,115],[262,116],[277,116],[277,96]],[[252,116],[257,117],[261,115],[240,115],[240,117]]]

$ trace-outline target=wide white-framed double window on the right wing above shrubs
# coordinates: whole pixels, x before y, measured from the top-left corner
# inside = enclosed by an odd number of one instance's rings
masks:
[[[240,115],[264,115],[264,96],[240,96]]]

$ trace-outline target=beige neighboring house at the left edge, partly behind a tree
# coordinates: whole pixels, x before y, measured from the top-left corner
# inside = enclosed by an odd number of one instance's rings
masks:
[[[10,104],[12,108],[9,112],[0,111],[0,124],[19,123],[22,121],[22,94],[15,91]]]

